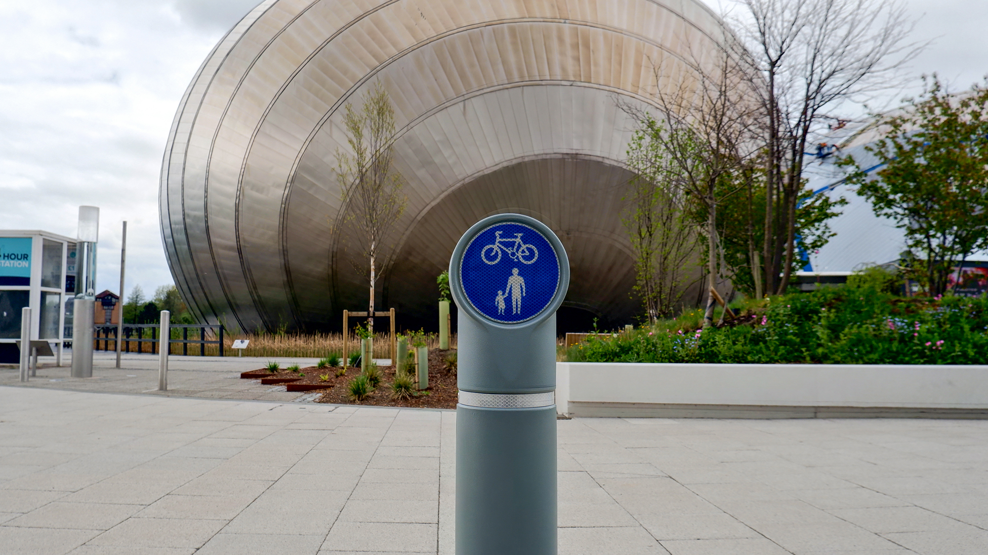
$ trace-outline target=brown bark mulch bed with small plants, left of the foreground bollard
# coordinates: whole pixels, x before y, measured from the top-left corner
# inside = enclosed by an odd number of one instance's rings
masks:
[[[455,409],[456,373],[445,368],[446,356],[452,351],[434,350],[429,352],[429,387],[418,391],[411,399],[395,399],[391,390],[394,382],[394,366],[378,366],[381,375],[380,384],[362,401],[350,398],[347,385],[361,373],[360,368],[347,368],[342,376],[334,375],[338,368],[319,369],[315,366],[301,368],[305,374],[299,377],[296,372],[282,369],[272,373],[267,369],[251,370],[240,374],[244,379],[260,379],[262,383],[284,383],[288,391],[323,390],[324,393],[317,403],[332,403],[335,405],[367,405],[375,407],[415,407],[428,409]],[[329,374],[328,380],[323,381],[320,375]],[[288,381],[290,380],[290,381]]]

